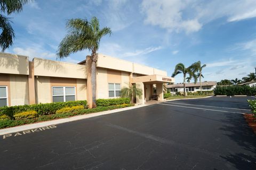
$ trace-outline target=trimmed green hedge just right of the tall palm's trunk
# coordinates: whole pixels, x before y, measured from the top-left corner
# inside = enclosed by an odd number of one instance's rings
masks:
[[[98,106],[113,106],[113,105],[122,105],[130,104],[130,98],[115,98],[115,99],[97,99],[96,105]]]

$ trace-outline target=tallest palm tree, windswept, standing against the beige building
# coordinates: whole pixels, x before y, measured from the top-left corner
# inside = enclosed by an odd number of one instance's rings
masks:
[[[91,52],[90,61],[86,61],[88,71],[87,82],[90,83],[87,89],[92,91],[89,107],[96,107],[97,50],[99,49],[100,39],[105,35],[111,35],[111,30],[108,27],[100,29],[99,20],[96,17],[93,17],[91,21],[79,18],[70,19],[67,21],[66,27],[69,32],[60,43],[57,56],[64,58],[72,53],[89,49]]]

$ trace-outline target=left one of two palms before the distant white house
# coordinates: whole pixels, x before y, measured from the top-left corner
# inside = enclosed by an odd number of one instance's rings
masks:
[[[184,90],[184,96],[186,96],[186,75],[188,74],[189,77],[193,77],[195,80],[195,83],[197,82],[197,77],[196,77],[195,72],[193,72],[193,70],[191,70],[191,66],[186,68],[185,65],[182,63],[179,63],[175,66],[175,70],[172,73],[172,77],[175,77],[175,75],[180,74],[180,73],[183,74],[183,90]]]

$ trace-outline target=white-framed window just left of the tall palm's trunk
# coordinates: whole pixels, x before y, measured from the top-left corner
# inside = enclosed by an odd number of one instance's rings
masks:
[[[75,87],[52,87],[52,101],[75,101]]]

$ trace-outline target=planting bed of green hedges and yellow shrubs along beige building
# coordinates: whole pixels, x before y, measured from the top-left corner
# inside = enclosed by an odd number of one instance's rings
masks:
[[[97,101],[98,106],[96,108],[87,108],[86,100],[38,104],[40,106],[1,107],[0,129],[134,106],[134,104],[130,104],[129,98],[98,99]]]

